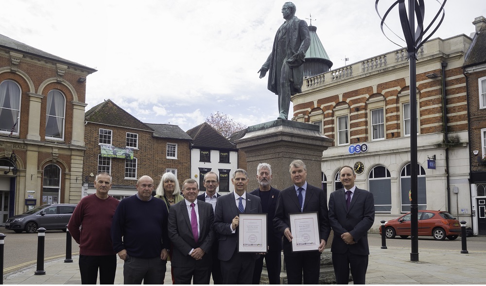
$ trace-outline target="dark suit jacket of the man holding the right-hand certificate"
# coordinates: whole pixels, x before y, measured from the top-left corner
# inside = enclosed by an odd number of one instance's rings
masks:
[[[324,190],[307,183],[303,212],[317,212],[317,218],[319,219],[319,238],[327,242],[330,226],[328,221],[328,205]],[[297,193],[295,192],[295,185],[281,191],[278,195],[274,227],[280,235],[283,235],[286,228],[290,228],[289,214],[293,213],[300,213],[300,204]],[[292,229],[290,231],[292,232]],[[289,242],[287,237],[283,237],[283,254],[298,255],[298,253],[292,252],[292,242]]]

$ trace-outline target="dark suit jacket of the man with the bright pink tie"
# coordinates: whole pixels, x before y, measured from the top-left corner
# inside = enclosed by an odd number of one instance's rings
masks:
[[[211,265],[211,246],[215,239],[213,231],[214,213],[211,204],[203,201],[197,202],[199,214],[199,238],[194,241],[191,220],[187,211],[186,200],[171,206],[169,212],[169,237],[174,245],[172,266],[174,267],[205,267]],[[191,249],[201,248],[206,252],[201,260],[195,260],[189,255]]]

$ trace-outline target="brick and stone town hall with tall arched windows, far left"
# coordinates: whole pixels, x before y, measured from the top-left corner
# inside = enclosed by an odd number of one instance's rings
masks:
[[[26,204],[81,198],[86,77],[93,72],[0,35],[2,225]]]

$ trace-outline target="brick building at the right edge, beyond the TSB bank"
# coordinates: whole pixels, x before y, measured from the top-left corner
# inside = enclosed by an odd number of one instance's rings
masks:
[[[468,87],[470,194],[472,229],[486,235],[486,19],[472,22],[476,33],[464,61]]]

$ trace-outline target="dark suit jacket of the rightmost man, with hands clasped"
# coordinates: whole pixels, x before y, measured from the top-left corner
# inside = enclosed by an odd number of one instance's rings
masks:
[[[373,194],[366,190],[354,191],[349,210],[346,208],[346,192],[344,189],[332,192],[329,197],[329,223],[334,231],[331,251],[368,255],[367,232],[375,221],[375,201]],[[346,244],[341,234],[349,232],[355,244]]]

